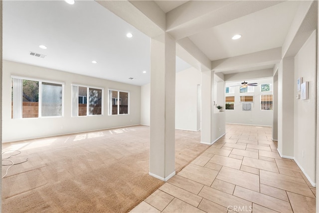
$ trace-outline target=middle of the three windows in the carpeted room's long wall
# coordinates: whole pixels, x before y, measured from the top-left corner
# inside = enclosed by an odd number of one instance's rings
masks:
[[[102,88],[72,85],[72,116],[102,115],[102,98]]]

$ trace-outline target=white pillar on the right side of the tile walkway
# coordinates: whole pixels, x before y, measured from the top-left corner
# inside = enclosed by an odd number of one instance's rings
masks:
[[[284,58],[278,69],[278,151],[294,156],[294,58]]]

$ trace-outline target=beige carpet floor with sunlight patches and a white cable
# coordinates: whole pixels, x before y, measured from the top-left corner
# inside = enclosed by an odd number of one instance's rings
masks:
[[[176,173],[207,148],[200,132],[176,130]],[[2,213],[128,212],[163,184],[148,174],[149,149],[147,126],[4,144],[28,161],[1,179]]]

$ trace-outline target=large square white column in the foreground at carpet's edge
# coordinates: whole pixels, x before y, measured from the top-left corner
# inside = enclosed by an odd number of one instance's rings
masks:
[[[151,40],[150,175],[175,175],[175,40],[163,33]]]

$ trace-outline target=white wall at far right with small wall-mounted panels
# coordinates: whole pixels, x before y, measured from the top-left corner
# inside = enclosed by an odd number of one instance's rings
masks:
[[[309,99],[295,99],[294,158],[313,183],[316,182],[316,99],[317,31],[315,30],[295,56],[295,82],[309,81]],[[295,96],[297,85],[294,86]]]

